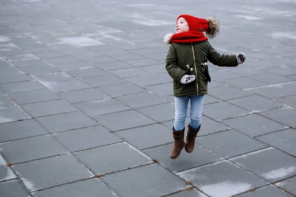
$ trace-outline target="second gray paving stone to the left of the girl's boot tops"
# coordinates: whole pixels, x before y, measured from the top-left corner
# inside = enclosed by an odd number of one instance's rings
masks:
[[[119,137],[110,133],[101,126],[59,132],[55,133],[54,136],[72,152],[105,146],[122,141]]]

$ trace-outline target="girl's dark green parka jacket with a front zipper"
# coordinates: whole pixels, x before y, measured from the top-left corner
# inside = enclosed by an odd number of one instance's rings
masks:
[[[217,66],[237,66],[235,55],[220,55],[208,42],[172,43],[167,57],[166,69],[174,79],[174,96],[204,95],[208,93],[208,82],[211,82],[207,63]],[[193,68],[190,70],[190,68]],[[182,84],[185,75],[195,75],[195,80]]]

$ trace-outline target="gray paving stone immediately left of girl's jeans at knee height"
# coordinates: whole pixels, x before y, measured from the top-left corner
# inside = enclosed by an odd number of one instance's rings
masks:
[[[164,122],[175,119],[175,103],[173,102],[144,107],[141,109],[137,109],[137,111],[147,115],[149,118],[157,122]],[[155,111],[158,111],[158,113],[155,113]]]

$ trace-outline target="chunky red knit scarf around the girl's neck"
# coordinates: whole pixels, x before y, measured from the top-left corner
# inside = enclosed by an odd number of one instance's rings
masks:
[[[205,36],[202,32],[194,32],[194,31],[188,31],[188,32],[181,32],[181,33],[175,33],[172,35],[170,41],[173,42],[179,42],[179,43],[191,43],[191,42],[202,42],[208,40],[208,38]]]

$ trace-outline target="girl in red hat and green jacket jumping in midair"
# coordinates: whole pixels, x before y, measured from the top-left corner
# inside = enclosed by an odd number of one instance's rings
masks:
[[[217,66],[237,66],[246,60],[244,53],[220,55],[208,42],[219,33],[219,23],[213,18],[197,18],[183,14],[177,19],[176,33],[164,36],[170,45],[166,57],[166,69],[173,78],[175,96],[175,123],[173,127],[174,146],[170,154],[176,159],[185,146],[191,153],[196,135],[200,129],[204,95],[211,82],[207,62]],[[190,99],[190,121],[186,143],[184,142],[185,118]]]

